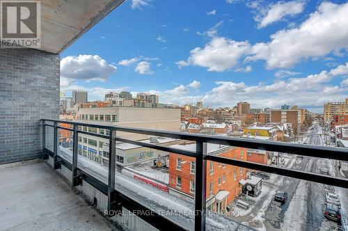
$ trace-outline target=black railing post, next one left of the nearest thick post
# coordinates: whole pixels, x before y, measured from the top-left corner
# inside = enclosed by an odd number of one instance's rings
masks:
[[[115,173],[116,173],[116,130],[110,130],[109,136],[109,182],[108,182],[108,211],[115,204]]]

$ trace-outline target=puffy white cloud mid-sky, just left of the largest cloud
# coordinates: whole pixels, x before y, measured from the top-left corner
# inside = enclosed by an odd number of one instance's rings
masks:
[[[209,71],[223,72],[234,67],[239,58],[248,54],[251,45],[247,41],[237,42],[223,37],[214,37],[205,47],[190,51],[187,61],[178,61],[179,67],[197,65]]]

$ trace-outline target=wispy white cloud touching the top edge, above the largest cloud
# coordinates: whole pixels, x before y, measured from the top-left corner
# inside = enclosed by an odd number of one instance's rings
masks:
[[[253,8],[258,8],[258,14],[254,19],[258,22],[258,28],[260,29],[287,16],[301,13],[305,3],[306,1],[279,1],[265,8],[260,7],[260,5],[252,6]]]

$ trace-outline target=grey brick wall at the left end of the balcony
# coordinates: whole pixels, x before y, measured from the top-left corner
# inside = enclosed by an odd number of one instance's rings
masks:
[[[40,119],[59,118],[57,54],[0,49],[0,164],[42,155]]]

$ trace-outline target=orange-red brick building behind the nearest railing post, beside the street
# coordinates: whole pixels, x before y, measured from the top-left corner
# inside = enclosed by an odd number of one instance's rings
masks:
[[[196,150],[196,143],[173,145],[172,148]],[[207,152],[232,159],[246,159],[246,148],[207,144]],[[169,192],[193,200],[195,191],[195,158],[169,155]],[[242,193],[239,180],[246,179],[246,169],[207,161],[207,209],[224,211]]]

